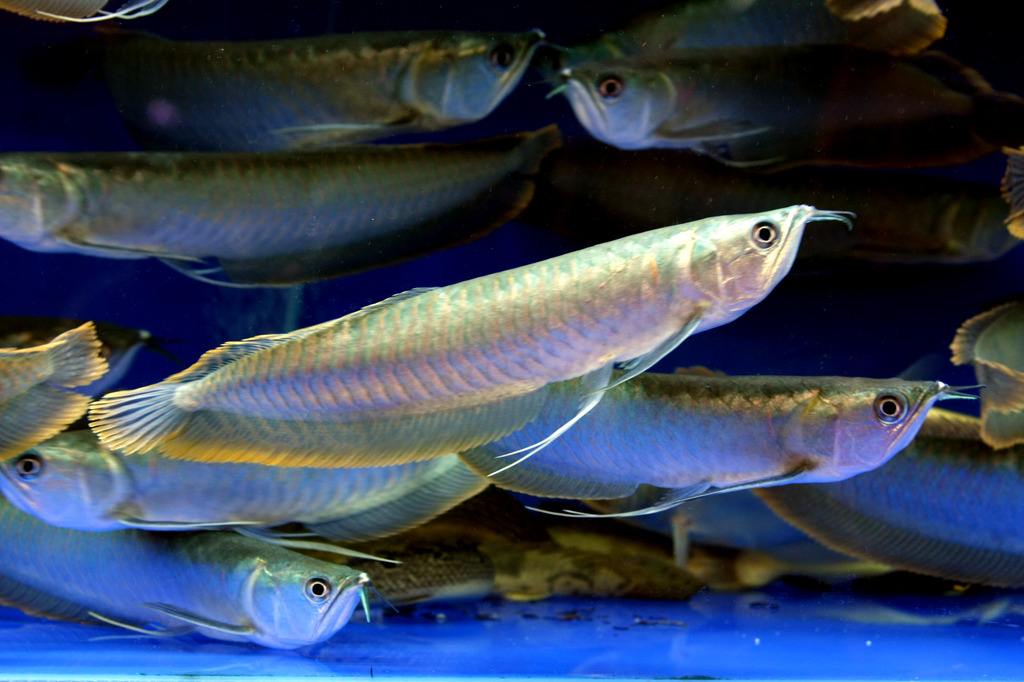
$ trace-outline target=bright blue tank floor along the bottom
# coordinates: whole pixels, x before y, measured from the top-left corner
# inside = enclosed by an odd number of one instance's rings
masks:
[[[1024,595],[453,603],[352,623],[304,651],[122,637],[0,609],[0,679],[264,676],[1022,679]]]

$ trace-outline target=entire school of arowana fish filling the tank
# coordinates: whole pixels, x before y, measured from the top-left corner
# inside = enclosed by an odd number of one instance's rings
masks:
[[[27,315],[20,282],[0,309],[0,604],[302,649],[369,621],[372,594],[687,599],[893,570],[1024,587],[1021,280],[937,339],[976,385],[942,381],[945,358],[886,378],[689,367],[694,336],[808,264],[936,276],[1020,254],[1024,98],[934,49],[934,0],[680,1],[570,44],[110,26],[188,0],[168,3],[0,0],[0,26],[106,25],[28,73],[88,62],[135,144],[0,153],[0,257],[153,259],[302,301],[513,221],[558,251],[442,265],[190,358],[172,348],[204,330],[130,306]],[[531,70],[575,132],[476,132]],[[985,160],[1001,184],[931,170]],[[847,314],[822,309],[808,330]],[[157,356],[175,371],[138,380]]]

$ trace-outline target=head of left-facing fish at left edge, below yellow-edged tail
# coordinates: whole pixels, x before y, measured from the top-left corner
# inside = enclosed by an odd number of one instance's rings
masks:
[[[0,489],[50,525],[110,530],[123,527],[116,509],[131,481],[120,457],[91,431],[70,431],[0,463]]]

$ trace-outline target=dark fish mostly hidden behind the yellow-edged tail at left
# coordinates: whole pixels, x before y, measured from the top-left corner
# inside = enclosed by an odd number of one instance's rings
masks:
[[[43,345],[83,324],[82,321],[68,317],[0,316],[0,348]],[[128,329],[109,323],[94,323],[94,326],[101,344],[99,354],[106,360],[109,369],[99,379],[78,389],[86,395],[99,395],[117,386],[143,347],[166,352],[159,339],[144,329]]]

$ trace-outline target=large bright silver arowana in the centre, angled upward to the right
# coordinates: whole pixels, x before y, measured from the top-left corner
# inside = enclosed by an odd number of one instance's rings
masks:
[[[481,445],[579,382],[575,415],[690,334],[727,324],[790,270],[807,222],[795,206],[637,235],[340,319],[227,343],[191,368],[95,402],[90,423],[126,454],[283,466],[382,466]]]

